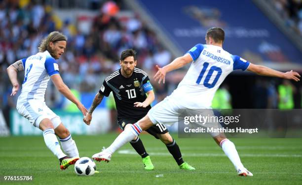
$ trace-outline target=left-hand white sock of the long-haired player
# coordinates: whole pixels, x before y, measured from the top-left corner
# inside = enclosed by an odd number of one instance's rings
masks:
[[[61,150],[57,136],[54,133],[54,129],[48,128],[44,130],[43,137],[47,148],[51,150],[51,152],[55,154],[59,159],[66,156],[66,154],[64,154]]]

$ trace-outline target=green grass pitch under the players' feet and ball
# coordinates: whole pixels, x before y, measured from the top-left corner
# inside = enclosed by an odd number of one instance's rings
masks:
[[[73,136],[81,156],[109,146],[117,134]],[[212,139],[179,139],[185,161],[196,171],[180,170],[166,147],[148,134],[141,139],[155,166],[145,171],[138,154],[126,144],[109,163],[96,162],[100,173],[76,176],[74,166],[61,171],[42,136],[0,138],[0,184],[40,185],[301,185],[302,139],[231,139],[243,164],[254,177],[239,177]],[[156,175],[163,174],[163,177]],[[3,175],[33,176],[31,182],[4,182]]]

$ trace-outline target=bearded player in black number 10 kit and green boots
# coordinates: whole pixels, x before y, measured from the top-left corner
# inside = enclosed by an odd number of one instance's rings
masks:
[[[104,80],[103,86],[96,94],[87,115],[83,119],[86,124],[90,124],[92,112],[101,103],[104,95],[109,96],[110,92],[113,92],[117,109],[117,122],[122,130],[129,126],[128,124],[136,123],[147,115],[151,109],[150,104],[154,100],[154,92],[147,73],[135,67],[137,64],[135,54],[136,52],[132,49],[121,53],[119,61],[121,68]],[[181,169],[195,169],[184,162],[178,145],[165,125],[157,123],[146,131],[166,145]],[[137,137],[130,144],[143,158],[145,169],[153,170],[154,166],[142,140]]]

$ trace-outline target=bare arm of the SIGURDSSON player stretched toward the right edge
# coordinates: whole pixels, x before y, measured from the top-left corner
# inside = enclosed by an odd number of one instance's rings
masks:
[[[300,77],[301,77],[299,73],[297,73],[293,70],[287,71],[284,73],[281,71],[276,71],[269,67],[265,67],[263,65],[255,65],[253,63],[250,63],[247,70],[251,71],[253,73],[259,74],[259,75],[285,78],[285,79],[289,79],[289,80],[295,80],[296,82],[300,81]]]

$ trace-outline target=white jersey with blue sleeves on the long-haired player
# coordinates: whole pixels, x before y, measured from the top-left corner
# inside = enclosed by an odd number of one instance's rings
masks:
[[[56,60],[46,50],[21,60],[24,67],[24,81],[18,103],[30,99],[45,101],[44,95],[50,76],[59,74]]]

